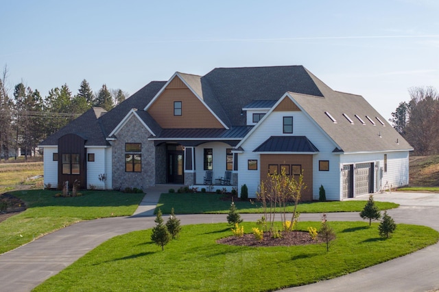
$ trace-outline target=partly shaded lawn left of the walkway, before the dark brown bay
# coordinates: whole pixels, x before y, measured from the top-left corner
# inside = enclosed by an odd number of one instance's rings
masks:
[[[57,193],[10,192],[26,202],[27,210],[0,223],[0,254],[75,222],[132,215],[144,196],[119,191],[82,191],[81,197],[54,198]]]

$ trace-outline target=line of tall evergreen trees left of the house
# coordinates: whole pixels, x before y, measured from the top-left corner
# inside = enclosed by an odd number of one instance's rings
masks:
[[[121,89],[110,90],[106,84],[93,93],[84,79],[77,94],[67,84],[52,88],[43,98],[38,90],[18,83],[7,87],[8,68],[0,77],[0,160],[20,155],[34,155],[36,147],[71,120],[91,107],[109,111],[128,97]],[[10,92],[12,91],[12,95]]]

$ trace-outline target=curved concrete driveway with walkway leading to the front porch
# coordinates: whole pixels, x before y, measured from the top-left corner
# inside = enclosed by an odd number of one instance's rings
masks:
[[[30,291],[100,243],[154,226],[160,187],[148,194],[132,217],[80,222],[0,256],[0,291]],[[353,200],[367,200],[367,196]],[[397,202],[388,213],[397,223],[420,224],[439,230],[439,194],[375,194],[375,200]],[[246,221],[259,214],[242,214]],[[226,215],[178,215],[182,224],[225,222]],[[300,220],[320,220],[320,214],[302,214]],[[358,213],[329,213],[330,221],[361,220]],[[432,291],[439,289],[439,244],[353,274],[285,291]]]

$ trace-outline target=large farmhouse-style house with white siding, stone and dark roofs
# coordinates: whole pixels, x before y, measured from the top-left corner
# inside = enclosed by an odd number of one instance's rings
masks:
[[[412,146],[359,95],[303,66],[215,68],[153,81],[111,111],[94,107],[44,148],[45,185],[156,184],[256,196],[269,173],[298,175],[303,200],[343,200],[407,185]]]

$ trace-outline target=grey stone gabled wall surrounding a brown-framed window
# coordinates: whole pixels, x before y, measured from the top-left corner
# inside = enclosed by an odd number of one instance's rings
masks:
[[[145,190],[156,183],[156,147],[153,141],[148,141],[151,133],[143,127],[143,124],[132,116],[125,126],[117,133],[117,140],[112,141],[112,187],[113,189],[125,189],[137,187]],[[142,144],[142,171],[125,171],[125,144]],[[136,152],[129,152],[136,153]]]

